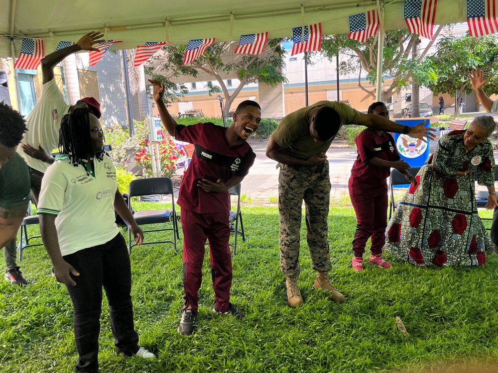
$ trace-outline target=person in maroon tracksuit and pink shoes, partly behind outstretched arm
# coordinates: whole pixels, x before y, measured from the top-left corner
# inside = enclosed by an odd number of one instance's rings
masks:
[[[389,109],[383,102],[370,105],[369,114],[377,114],[389,119]],[[353,240],[353,269],[363,270],[365,245],[372,238],[370,263],[381,268],[390,268],[390,263],[382,258],[387,226],[387,183],[391,168],[395,168],[410,183],[415,179],[408,172],[410,166],[401,161],[396,143],[391,134],[374,128],[363,130],[356,137],[358,157],[351,170],[349,195],[356,212],[358,224]]]

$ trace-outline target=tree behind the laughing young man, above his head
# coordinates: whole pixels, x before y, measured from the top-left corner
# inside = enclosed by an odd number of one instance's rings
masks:
[[[183,59],[187,46],[167,45],[163,47],[163,53],[150,60],[146,73],[165,85],[166,92],[169,93],[166,100],[169,102],[175,100],[175,97],[177,99],[178,95],[185,94],[185,91],[188,92],[184,85],[175,84],[175,79],[180,76],[197,78],[201,72],[206,73],[213,77],[213,81],[218,82],[218,85],[208,86],[209,94],[223,93],[224,110],[228,113],[234,99],[249,83],[260,82],[275,87],[287,81],[282,74],[285,51],[281,41],[281,39],[269,39],[261,54],[257,56],[234,54],[233,59],[224,55],[231,48],[235,48],[234,42],[215,43],[201,57],[186,66],[183,66]],[[224,76],[226,79],[226,75],[231,72],[235,72],[240,82],[234,92],[229,92],[223,79]],[[182,89],[185,91],[181,91]]]

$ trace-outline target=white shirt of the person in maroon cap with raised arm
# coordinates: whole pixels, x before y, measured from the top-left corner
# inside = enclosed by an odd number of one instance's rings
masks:
[[[64,101],[64,96],[59,91],[55,78],[43,85],[40,100],[34,106],[26,119],[28,130],[24,133],[22,143],[38,149],[41,144],[47,155],[59,146],[59,129],[61,119],[67,114],[71,106]],[[35,159],[24,153],[21,146],[17,147],[27,165],[41,173],[47,170],[48,163]]]

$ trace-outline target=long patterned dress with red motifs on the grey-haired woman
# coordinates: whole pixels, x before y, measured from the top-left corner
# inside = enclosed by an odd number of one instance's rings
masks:
[[[475,266],[486,263],[491,239],[479,218],[474,173],[478,183],[495,183],[493,144],[485,140],[467,153],[465,131],[441,138],[436,152],[415,177],[387,224],[384,248],[416,265]]]

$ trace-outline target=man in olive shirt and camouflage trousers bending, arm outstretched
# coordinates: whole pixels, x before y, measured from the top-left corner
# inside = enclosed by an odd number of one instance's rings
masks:
[[[279,162],[277,167],[280,167],[280,270],[286,278],[287,299],[291,307],[303,303],[297,284],[301,270],[299,232],[303,199],[311,268],[317,271],[314,287],[326,291],[333,300],[344,302],[344,295],[332,286],[328,274],[331,270],[327,225],[330,178],[325,153],[339,128],[345,124],[361,124],[415,138],[428,135],[424,123],[403,126],[380,115],[362,114],[344,103],[332,101],[319,101],[282,119],[268,140],[266,156]]]

